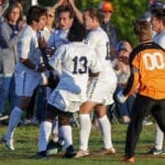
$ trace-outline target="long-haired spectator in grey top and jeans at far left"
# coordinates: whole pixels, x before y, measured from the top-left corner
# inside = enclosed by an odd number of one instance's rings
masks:
[[[24,28],[22,9],[12,3],[0,23],[0,116],[4,112],[4,103],[9,97],[10,112],[16,105],[15,81],[13,77],[16,64],[18,38]]]

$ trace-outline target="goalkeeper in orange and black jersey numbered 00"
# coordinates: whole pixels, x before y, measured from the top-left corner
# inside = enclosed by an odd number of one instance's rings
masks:
[[[145,116],[152,113],[165,133],[165,50],[152,42],[152,30],[147,21],[135,20],[133,30],[140,44],[130,55],[131,76],[118,100],[124,102],[136,91],[127,132],[123,161],[134,163],[134,151]]]

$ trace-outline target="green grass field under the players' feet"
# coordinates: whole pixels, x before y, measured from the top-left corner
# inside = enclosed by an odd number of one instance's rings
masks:
[[[6,131],[7,127],[0,125],[0,135]],[[19,127],[15,130],[15,151],[11,152],[0,144],[0,165],[124,165],[121,157],[124,152],[127,125],[112,124],[112,140],[117,150],[116,155],[102,157],[82,157],[82,158],[63,158],[62,156],[52,156],[48,160],[31,158],[37,151],[37,133],[36,125]],[[165,156],[146,156],[144,155],[153,144],[154,125],[144,127],[136,147],[136,165],[165,165]],[[78,147],[78,128],[74,128],[75,148]],[[102,146],[98,129],[92,130],[89,141],[89,151],[97,151]]]

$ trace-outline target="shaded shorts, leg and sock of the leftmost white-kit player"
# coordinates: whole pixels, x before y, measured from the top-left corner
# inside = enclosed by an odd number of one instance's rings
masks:
[[[26,109],[34,88],[38,84],[38,78],[28,73],[15,73],[15,91],[18,95],[18,103],[12,110],[9,119],[9,125],[6,134],[2,136],[2,142],[10,150],[13,147],[13,133],[18,127],[23,111]]]

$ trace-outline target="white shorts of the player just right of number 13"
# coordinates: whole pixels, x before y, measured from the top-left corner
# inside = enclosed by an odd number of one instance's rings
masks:
[[[101,103],[105,106],[112,105],[113,94],[117,88],[116,74],[108,75],[101,73],[98,78],[89,82],[87,89],[88,101]]]

